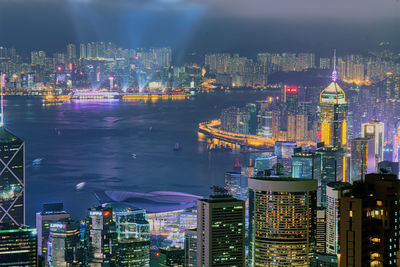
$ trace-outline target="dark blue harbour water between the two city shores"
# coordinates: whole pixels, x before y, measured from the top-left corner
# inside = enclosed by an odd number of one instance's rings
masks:
[[[55,201],[64,202],[75,219],[82,219],[90,206],[98,204],[93,194],[97,190],[208,195],[211,185],[223,184],[224,173],[232,169],[236,157],[241,162],[246,159],[242,154],[205,150],[198,141],[198,123],[217,118],[222,108],[266,96],[233,92],[183,101],[59,106],[8,97],[6,127],[26,145],[27,223],[34,225],[42,204]],[[180,142],[182,151],[172,151],[175,142]],[[42,163],[32,166],[37,158],[43,158]],[[81,182],[86,186],[76,191]]]

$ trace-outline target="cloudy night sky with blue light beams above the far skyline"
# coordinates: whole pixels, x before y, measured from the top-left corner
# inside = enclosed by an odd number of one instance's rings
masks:
[[[396,0],[0,0],[0,45],[22,53],[68,42],[180,53],[365,51],[400,47]]]

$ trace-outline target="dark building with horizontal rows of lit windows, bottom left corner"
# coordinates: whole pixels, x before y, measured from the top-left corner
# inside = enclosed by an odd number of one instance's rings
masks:
[[[0,266],[38,266],[36,229],[0,224]]]

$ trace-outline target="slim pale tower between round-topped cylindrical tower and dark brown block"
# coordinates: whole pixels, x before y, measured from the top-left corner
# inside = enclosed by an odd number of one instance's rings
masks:
[[[350,183],[332,182],[327,185],[326,197],[326,253],[336,255],[339,253],[339,221],[340,204],[342,196],[351,188]]]

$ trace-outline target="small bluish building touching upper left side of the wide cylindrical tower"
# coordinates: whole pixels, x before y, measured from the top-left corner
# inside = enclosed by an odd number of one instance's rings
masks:
[[[225,189],[232,197],[246,201],[248,197],[247,176],[237,172],[226,172]]]

